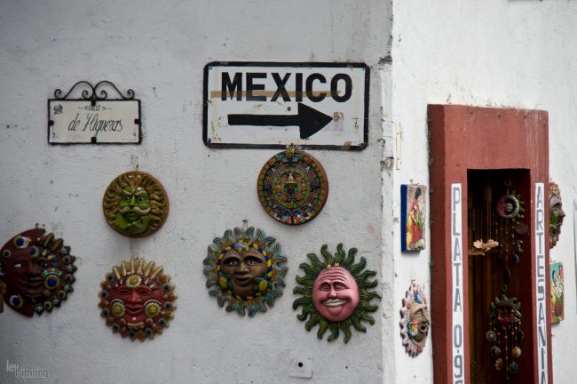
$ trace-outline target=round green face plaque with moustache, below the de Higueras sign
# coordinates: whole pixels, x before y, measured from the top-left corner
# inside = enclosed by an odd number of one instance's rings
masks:
[[[125,172],[107,188],[102,203],[107,223],[121,235],[144,237],[164,224],[169,199],[160,181],[146,172]]]

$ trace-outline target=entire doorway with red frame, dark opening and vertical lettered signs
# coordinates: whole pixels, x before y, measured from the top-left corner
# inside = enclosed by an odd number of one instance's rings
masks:
[[[552,383],[548,114],[428,114],[434,380]]]

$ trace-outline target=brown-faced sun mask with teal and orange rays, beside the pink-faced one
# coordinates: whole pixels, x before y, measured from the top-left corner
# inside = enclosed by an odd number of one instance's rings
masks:
[[[246,225],[246,221],[245,221]],[[281,264],[287,258],[281,256],[281,244],[255,229],[227,229],[222,237],[216,237],[209,245],[204,259],[204,275],[209,294],[217,298],[218,305],[226,311],[236,311],[244,316],[266,312],[266,305],[273,307],[281,296],[287,268]]]

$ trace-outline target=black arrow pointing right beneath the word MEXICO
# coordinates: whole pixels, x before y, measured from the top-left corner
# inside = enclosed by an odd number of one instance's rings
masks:
[[[297,115],[229,115],[229,125],[290,126],[298,125],[301,139],[308,139],[333,120],[318,110],[298,103]]]

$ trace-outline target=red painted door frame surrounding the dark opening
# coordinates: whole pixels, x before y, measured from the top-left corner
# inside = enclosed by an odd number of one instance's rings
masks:
[[[453,337],[453,260],[451,237],[451,185],[462,186],[462,281],[468,282],[467,258],[467,170],[525,169],[529,171],[531,196],[526,199],[531,231],[531,276],[527,289],[531,290],[532,303],[523,305],[524,354],[533,355],[533,366],[519,367],[533,370],[534,383],[553,383],[551,334],[549,319],[549,246],[544,246],[544,276],[546,296],[546,346],[536,334],[537,330],[537,266],[534,202],[536,183],[544,184],[547,212],[544,228],[549,228],[549,122],[542,110],[515,108],[478,108],[457,105],[429,105],[429,133],[431,154],[431,337],[434,359],[434,380],[438,383],[470,383],[469,305],[468,284],[462,284],[464,311],[465,372],[463,381],[455,379]],[[528,211],[528,210],[526,210]],[[544,244],[549,244],[549,230],[544,231]],[[529,262],[529,260],[527,260]],[[539,269],[538,269],[539,268]],[[541,292],[541,291],[540,291]],[[541,337],[541,340],[544,340]],[[538,348],[547,351],[547,372],[539,370]],[[542,365],[541,365],[542,367]],[[531,373],[524,373],[531,376]]]

